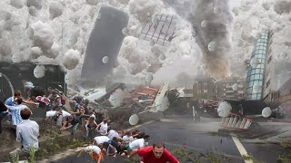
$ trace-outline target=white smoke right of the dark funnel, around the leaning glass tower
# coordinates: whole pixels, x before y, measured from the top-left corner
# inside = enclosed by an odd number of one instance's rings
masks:
[[[235,21],[233,24],[234,51],[232,61],[236,64],[233,71],[239,75],[246,75],[246,65],[239,62],[250,59],[254,43],[264,30],[274,32],[271,49],[273,53],[276,91],[291,77],[290,55],[290,22],[291,3],[286,0],[242,0],[241,6],[233,10]],[[240,60],[239,60],[240,59]],[[235,67],[235,66],[233,66]]]

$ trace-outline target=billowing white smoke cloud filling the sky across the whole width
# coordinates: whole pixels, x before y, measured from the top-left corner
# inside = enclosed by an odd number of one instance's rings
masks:
[[[186,72],[189,77],[195,76],[200,67],[217,77],[227,76],[229,73],[245,77],[246,66],[243,61],[249,59],[257,35],[266,28],[275,32],[272,45],[276,54],[275,61],[285,61],[284,65],[287,65],[291,59],[288,55],[291,45],[288,39],[291,37],[289,1],[242,0],[241,6],[232,10],[233,24],[226,24],[228,34],[224,37],[224,42],[220,42],[220,37],[207,37],[207,43],[201,43],[201,39],[193,37],[193,21],[202,30],[212,23],[207,21],[202,24],[206,19],[199,22],[192,19],[195,17],[189,16],[189,11],[199,12],[196,5],[191,5],[192,1],[174,0],[170,5],[165,2],[26,0],[25,5],[24,0],[1,0],[0,59],[8,62],[32,61],[62,65],[67,58],[65,53],[72,49],[79,52],[79,57],[74,58],[75,63],[71,68],[76,67],[74,74],[79,74],[85,46],[102,5],[111,5],[129,14],[126,37],[117,59],[118,65],[110,77],[117,82],[145,83],[146,74],[149,72],[153,73],[153,84],[173,82],[182,72]],[[218,16],[217,21],[229,23],[231,19],[227,17],[229,11],[225,2],[219,1],[217,5],[206,3],[204,7],[206,11],[215,14],[214,17],[216,14],[226,15]],[[176,7],[177,5],[179,6]],[[208,5],[211,7],[207,8]],[[176,14],[179,7],[181,13]],[[206,11],[199,13],[201,18],[203,15],[207,16]],[[168,45],[153,46],[137,38],[143,24],[155,14],[176,15],[176,37]],[[209,18],[212,20],[214,17]],[[215,49],[219,53],[211,52],[214,55],[206,55],[207,47],[205,49],[201,44],[208,46],[213,41],[216,42]],[[276,70],[280,72],[281,64],[277,65]]]

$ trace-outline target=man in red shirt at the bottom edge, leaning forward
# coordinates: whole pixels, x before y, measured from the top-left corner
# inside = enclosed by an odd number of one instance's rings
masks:
[[[153,146],[135,149],[128,158],[133,158],[135,154],[142,158],[141,163],[179,163],[179,161],[167,150],[163,142],[156,142]]]

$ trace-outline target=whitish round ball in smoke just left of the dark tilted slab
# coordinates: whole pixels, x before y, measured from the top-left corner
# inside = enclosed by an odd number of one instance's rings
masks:
[[[80,53],[74,49],[70,49],[65,53],[64,66],[67,70],[75,69],[75,66],[79,63]]]

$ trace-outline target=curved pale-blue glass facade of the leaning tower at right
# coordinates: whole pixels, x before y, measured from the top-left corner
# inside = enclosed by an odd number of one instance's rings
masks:
[[[256,41],[246,75],[246,100],[262,100],[269,32],[264,31]]]

